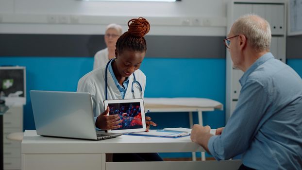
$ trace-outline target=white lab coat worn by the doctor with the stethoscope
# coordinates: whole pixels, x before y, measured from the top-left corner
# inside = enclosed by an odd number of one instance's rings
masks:
[[[134,71],[136,81],[142,86],[142,98],[144,98],[145,86],[146,86],[146,76],[145,74],[137,69]],[[125,93],[124,99],[133,99],[131,92],[132,82],[134,81],[133,74],[129,77],[129,84]],[[107,70],[107,93],[108,100],[122,99],[120,92],[114,83],[113,77]],[[140,98],[139,86],[134,83],[134,96],[135,98]],[[84,75],[78,82],[77,92],[88,92],[91,94],[93,101],[93,113],[94,117],[99,116],[102,112],[105,111],[104,100],[105,96],[105,67],[97,68],[90,71]]]

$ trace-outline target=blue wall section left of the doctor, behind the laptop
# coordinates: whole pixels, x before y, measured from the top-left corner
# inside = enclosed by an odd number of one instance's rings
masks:
[[[0,57],[1,66],[26,67],[24,129],[35,129],[29,90],[76,91],[78,80],[92,64],[90,57]]]

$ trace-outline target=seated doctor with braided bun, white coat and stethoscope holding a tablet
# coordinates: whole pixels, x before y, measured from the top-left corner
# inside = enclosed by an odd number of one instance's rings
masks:
[[[117,129],[122,120],[118,115],[109,115],[109,107],[104,108],[104,100],[143,98],[146,76],[139,70],[147,44],[144,35],[150,30],[149,22],[142,17],[128,21],[128,32],[117,39],[116,58],[106,67],[87,73],[78,82],[78,92],[89,92],[93,100],[95,125],[102,130]],[[100,114],[101,113],[101,114]],[[146,117],[147,129],[156,124]],[[130,153],[131,154],[131,153]],[[157,153],[115,153],[113,161],[160,161]]]

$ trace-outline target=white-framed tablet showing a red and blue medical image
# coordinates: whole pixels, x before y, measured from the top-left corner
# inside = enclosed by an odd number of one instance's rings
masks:
[[[145,132],[146,120],[143,99],[106,100],[104,106],[109,106],[109,114],[118,114],[123,121],[122,127],[108,130],[112,133]]]

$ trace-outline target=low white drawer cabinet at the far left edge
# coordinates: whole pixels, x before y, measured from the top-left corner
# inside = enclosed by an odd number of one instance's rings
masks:
[[[12,106],[3,115],[3,168],[21,169],[21,141],[9,140],[7,135],[23,131],[23,105]]]

